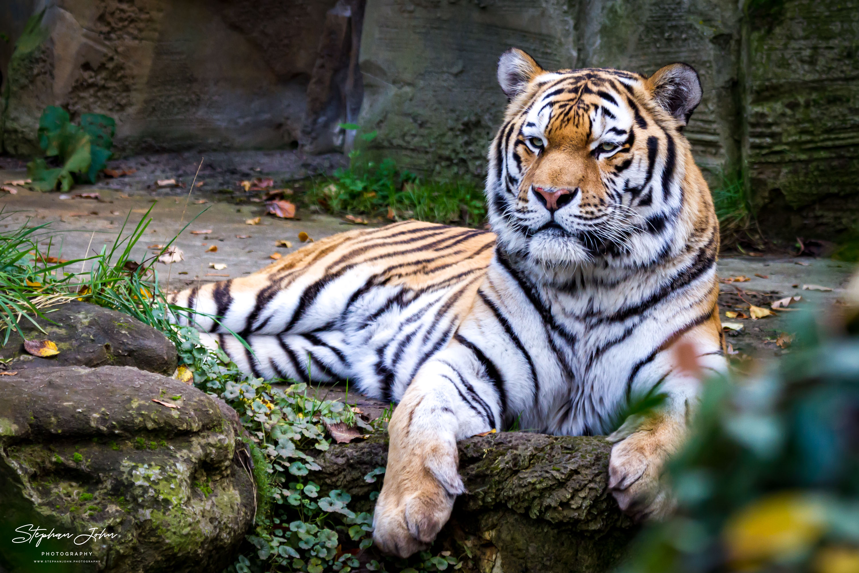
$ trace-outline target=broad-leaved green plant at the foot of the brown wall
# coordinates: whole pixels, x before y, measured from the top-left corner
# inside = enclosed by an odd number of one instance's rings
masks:
[[[39,146],[59,166],[51,168],[42,158],[27,163],[27,174],[42,191],[57,186],[68,191],[77,182],[94,183],[107,166],[113,147],[116,122],[100,113],[84,113],[80,125],[70,121],[62,107],[48,106],[39,119]]]

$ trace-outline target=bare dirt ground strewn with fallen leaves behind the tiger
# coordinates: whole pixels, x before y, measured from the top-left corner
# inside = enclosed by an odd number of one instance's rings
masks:
[[[110,167],[136,168],[136,173],[100,181],[94,186],[76,186],[68,193],[30,192],[22,188],[15,195],[0,193],[0,206],[9,214],[0,227],[14,227],[27,219],[51,222],[51,229],[58,232],[60,241],[52,244],[50,254],[77,259],[111,245],[126,216],[127,231],[151,208],[149,215],[153,222],[144,241],[132,251],[132,259],[139,261],[154,256],[160,248],[155,246],[166,244],[192,221],[175,243],[184,253],[184,259],[173,265],[156,265],[161,283],[168,290],[257,271],[272,262],[271,255],[283,256],[301,247],[298,235],[302,231],[320,239],[355,228],[338,217],[306,209],[299,210],[294,220],[266,216],[260,193],[245,192],[238,185],[240,180],[271,177],[276,186],[285,186],[309,175],[331,174],[344,165],[342,155],[311,156],[298,151],[209,154],[198,175],[198,181],[204,181],[204,185],[192,187],[199,162],[200,157],[192,154],[134,157],[112,162]],[[0,182],[25,177],[22,163],[0,162]],[[185,187],[159,188],[155,185],[159,179],[176,179]],[[76,197],[86,192],[98,192],[99,198]],[[247,224],[247,220],[258,216],[258,224]],[[278,247],[277,241],[289,241],[291,247]],[[777,343],[782,332],[789,332],[790,315],[795,311],[786,310],[758,320],[743,318],[750,314],[750,305],[770,308],[771,302],[786,296],[801,296],[801,301],[791,305],[791,309],[836,302],[855,268],[850,263],[811,257],[722,257],[719,276],[726,281],[721,284],[722,321],[742,326],[739,330],[726,329],[728,342],[736,353],[733,356],[779,356],[790,351],[784,337],[781,344]],[[735,282],[730,277],[749,280]],[[832,290],[804,289],[807,285]],[[726,311],[738,315],[728,318]]]

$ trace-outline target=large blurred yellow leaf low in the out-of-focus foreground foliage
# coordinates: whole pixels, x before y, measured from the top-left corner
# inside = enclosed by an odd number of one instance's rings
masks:
[[[825,511],[812,497],[782,492],[732,515],[722,532],[728,556],[744,569],[804,552],[825,531]]]

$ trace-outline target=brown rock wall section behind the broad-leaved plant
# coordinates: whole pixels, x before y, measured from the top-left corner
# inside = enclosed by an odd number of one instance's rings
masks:
[[[11,0],[0,25],[18,34],[13,41],[21,40],[22,15],[45,14],[36,38],[0,58],[3,149],[35,154],[48,105],[65,107],[72,119],[112,116],[119,153],[295,147],[315,135],[302,135],[308,84],[335,2],[37,0],[27,10],[33,0]],[[334,107],[319,129],[345,119],[342,105]]]

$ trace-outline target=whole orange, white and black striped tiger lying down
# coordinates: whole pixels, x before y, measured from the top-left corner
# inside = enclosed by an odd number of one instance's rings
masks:
[[[512,48],[497,79],[508,106],[488,154],[491,231],[351,230],[171,298],[220,317],[178,320],[251,375],[348,379],[399,403],[373,535],[404,558],[466,492],[457,441],[514,421],[604,436],[640,396],[662,401],[609,436],[607,489],[636,519],[666,515],[663,466],[702,380],[727,369],[718,222],[683,134],[697,72],[547,71]]]

